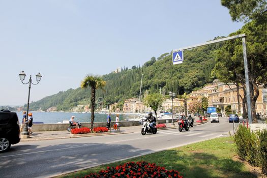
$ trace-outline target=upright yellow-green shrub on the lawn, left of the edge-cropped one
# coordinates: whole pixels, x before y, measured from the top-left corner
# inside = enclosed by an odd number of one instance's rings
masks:
[[[240,125],[233,135],[236,145],[236,153],[241,160],[246,160],[252,166],[259,165],[258,138],[255,132],[251,132],[250,128]]]

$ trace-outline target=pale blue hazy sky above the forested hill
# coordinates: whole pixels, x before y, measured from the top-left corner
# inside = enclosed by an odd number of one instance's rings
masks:
[[[228,36],[232,22],[220,0],[0,0],[1,105],[27,103],[80,86],[86,74],[142,66],[172,49]]]

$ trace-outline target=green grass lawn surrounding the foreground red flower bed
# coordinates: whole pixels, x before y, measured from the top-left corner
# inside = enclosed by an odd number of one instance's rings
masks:
[[[115,167],[130,161],[146,161],[156,163],[166,169],[174,169],[184,177],[257,177],[247,166],[236,159],[233,139],[230,137],[216,138],[194,143],[175,149],[140,156],[90,169],[66,174],[60,177],[82,177],[91,172]]]

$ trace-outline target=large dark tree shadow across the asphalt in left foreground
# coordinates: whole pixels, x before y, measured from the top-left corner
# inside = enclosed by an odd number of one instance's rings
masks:
[[[49,176],[151,151],[128,144],[65,143],[38,146],[17,145],[11,147],[10,152],[0,154],[1,177]]]

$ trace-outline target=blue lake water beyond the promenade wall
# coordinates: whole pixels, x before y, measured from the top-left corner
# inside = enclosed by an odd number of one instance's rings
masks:
[[[30,112],[30,111],[29,111]],[[91,122],[91,113],[73,113],[73,112],[38,112],[31,111],[33,113],[34,122],[43,122],[44,124],[53,124],[57,122],[69,121],[71,116],[74,115],[74,121],[81,123]],[[22,122],[22,112],[17,112],[19,122]],[[137,115],[133,114],[120,114],[120,121],[127,118],[135,118]],[[107,114],[95,113],[95,122],[106,122]],[[116,115],[111,114],[111,121],[115,121]]]

